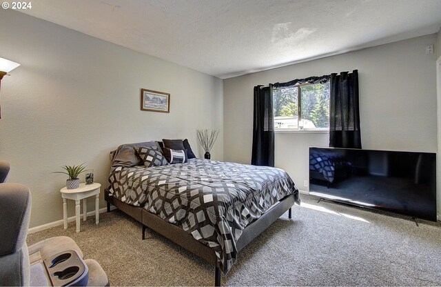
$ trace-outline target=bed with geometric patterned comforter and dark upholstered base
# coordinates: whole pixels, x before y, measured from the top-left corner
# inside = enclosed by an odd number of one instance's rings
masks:
[[[238,251],[291,206],[300,203],[289,175],[279,168],[188,159],[146,168],[130,143],[112,155],[107,211],[116,206],[146,227],[215,266],[215,285]]]

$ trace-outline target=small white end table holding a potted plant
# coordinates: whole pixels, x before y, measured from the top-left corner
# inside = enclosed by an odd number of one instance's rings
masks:
[[[75,201],[75,219],[76,232],[80,232],[80,200],[83,199],[83,217],[84,221],[88,218],[87,197],[95,196],[95,224],[99,224],[99,192],[101,184],[80,184],[79,188],[68,189],[61,188],[61,197],[63,197],[63,219],[64,229],[68,229],[68,199]]]

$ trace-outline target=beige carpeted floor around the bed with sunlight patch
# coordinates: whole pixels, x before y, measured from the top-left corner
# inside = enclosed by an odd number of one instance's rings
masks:
[[[232,286],[441,286],[441,223],[353,208],[301,195],[240,251],[221,284]],[[28,244],[66,235],[99,261],[112,286],[207,286],[214,267],[114,210],[28,235]]]

